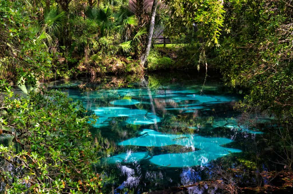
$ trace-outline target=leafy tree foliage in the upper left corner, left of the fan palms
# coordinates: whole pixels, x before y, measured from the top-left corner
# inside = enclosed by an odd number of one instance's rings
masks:
[[[38,13],[24,1],[0,1],[0,77],[25,77],[29,82],[50,75],[53,55],[48,25],[38,25]],[[45,22],[45,20],[40,20]]]

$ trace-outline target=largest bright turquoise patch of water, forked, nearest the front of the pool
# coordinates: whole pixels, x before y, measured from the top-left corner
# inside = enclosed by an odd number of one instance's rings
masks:
[[[131,138],[118,143],[120,146],[162,147],[181,145],[200,149],[198,151],[176,154],[162,154],[153,156],[150,161],[156,165],[167,167],[185,167],[203,165],[229,153],[241,152],[233,148],[224,148],[221,145],[231,143],[232,140],[221,137],[202,137],[191,134],[163,134],[150,129],[144,129],[142,136]],[[189,158],[190,157],[190,158]],[[204,162],[202,162],[204,161]]]

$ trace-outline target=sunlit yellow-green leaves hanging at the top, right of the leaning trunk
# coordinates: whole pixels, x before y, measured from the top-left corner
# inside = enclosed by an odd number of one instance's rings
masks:
[[[170,33],[178,35],[183,28],[198,25],[198,34],[205,39],[208,46],[219,46],[218,39],[223,25],[224,1],[208,0],[167,0],[172,16],[168,22]]]

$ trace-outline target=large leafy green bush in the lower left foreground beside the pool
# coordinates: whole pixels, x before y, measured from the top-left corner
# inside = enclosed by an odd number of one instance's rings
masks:
[[[83,106],[61,92],[31,90],[25,98],[14,96],[3,82],[1,93],[0,132],[13,142],[0,146],[4,190],[99,193],[101,180],[92,166],[99,146],[90,141]]]

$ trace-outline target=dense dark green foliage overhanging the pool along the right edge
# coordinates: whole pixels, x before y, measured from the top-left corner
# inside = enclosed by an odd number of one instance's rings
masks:
[[[243,108],[293,118],[293,21],[290,1],[231,1],[217,50],[224,81],[249,89]],[[219,63],[218,63],[219,62]]]

